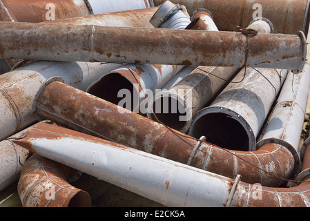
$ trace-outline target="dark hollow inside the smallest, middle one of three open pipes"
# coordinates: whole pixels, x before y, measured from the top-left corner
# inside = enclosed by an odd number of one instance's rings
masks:
[[[186,121],[180,120],[180,117],[186,116],[186,110],[183,104],[174,97],[156,99],[153,103],[153,112],[159,122],[177,131],[181,131],[186,124]],[[151,117],[153,120],[157,120],[154,113],[151,114]]]

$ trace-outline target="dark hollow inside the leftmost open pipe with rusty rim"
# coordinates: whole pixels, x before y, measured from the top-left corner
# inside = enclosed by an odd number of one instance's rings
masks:
[[[122,106],[130,111],[133,111],[134,107],[134,90],[133,83],[128,81],[122,75],[118,73],[110,73],[102,79],[100,79],[96,84],[94,84],[91,88],[89,88],[88,93],[91,95],[95,95],[101,99],[106,100],[107,102],[111,102],[113,104],[118,105],[122,99],[125,98],[125,95],[121,95],[117,97],[119,90],[126,89],[130,92],[131,97],[131,106]]]

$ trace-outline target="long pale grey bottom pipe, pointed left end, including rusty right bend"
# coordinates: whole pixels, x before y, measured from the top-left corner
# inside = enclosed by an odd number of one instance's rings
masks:
[[[293,188],[267,187],[55,125],[40,124],[25,135],[14,143],[166,206],[310,206],[309,176]],[[309,170],[309,164],[303,169]]]

